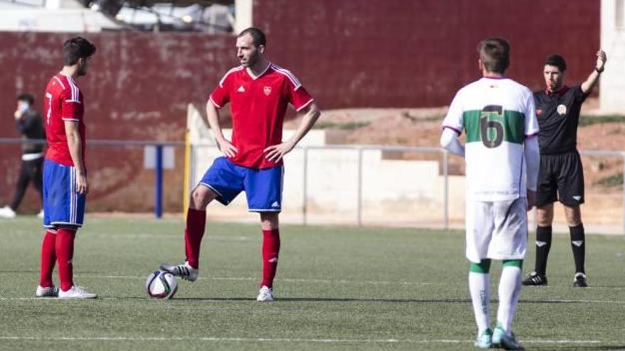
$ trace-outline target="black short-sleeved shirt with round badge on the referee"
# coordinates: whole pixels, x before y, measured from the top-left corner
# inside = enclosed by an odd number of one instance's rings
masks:
[[[534,91],[536,117],[540,128],[540,155],[575,150],[580,109],[587,96],[579,85],[572,88],[562,87],[551,94],[544,90]]]

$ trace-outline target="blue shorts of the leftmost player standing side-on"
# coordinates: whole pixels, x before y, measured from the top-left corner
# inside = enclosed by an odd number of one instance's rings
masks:
[[[76,168],[53,160],[43,162],[43,226],[82,226],[85,194],[76,191]]]

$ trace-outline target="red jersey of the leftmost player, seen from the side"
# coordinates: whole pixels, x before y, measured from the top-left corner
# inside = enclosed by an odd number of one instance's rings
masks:
[[[56,74],[45,88],[43,100],[45,113],[45,138],[48,139],[48,152],[45,157],[60,165],[73,166],[70,149],[67,147],[67,135],[65,135],[65,121],[78,123],[82,159],[85,160],[85,122],[83,114],[85,104],[83,96],[76,82],[70,76]]]

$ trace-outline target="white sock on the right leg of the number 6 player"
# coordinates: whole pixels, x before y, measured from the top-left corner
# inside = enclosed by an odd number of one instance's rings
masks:
[[[519,293],[521,293],[521,268],[504,267],[501,270],[501,279],[499,280],[497,322],[504,327],[508,335],[511,333]]]

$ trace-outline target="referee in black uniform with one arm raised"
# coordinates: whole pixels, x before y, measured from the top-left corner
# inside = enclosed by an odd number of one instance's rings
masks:
[[[580,205],[584,204],[584,173],[577,152],[577,123],[582,104],[599,81],[607,61],[603,50],[597,52],[597,65],[585,82],[575,87],[562,84],[566,62],[560,55],[551,55],[545,61],[543,75],[547,89],[535,91],[538,116],[538,143],[540,169],[536,207],[536,268],[523,280],[523,285],[547,285],[547,257],[551,248],[553,202],[564,205],[575,259],[573,286],[585,287],[585,234]]]

